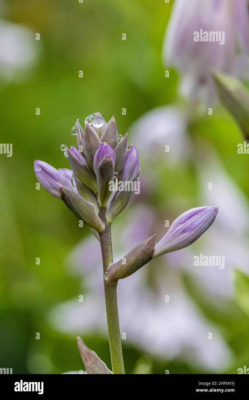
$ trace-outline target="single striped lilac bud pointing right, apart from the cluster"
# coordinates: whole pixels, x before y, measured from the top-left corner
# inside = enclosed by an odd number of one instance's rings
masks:
[[[190,246],[211,226],[217,213],[218,207],[205,206],[181,214],[156,244],[153,258]]]

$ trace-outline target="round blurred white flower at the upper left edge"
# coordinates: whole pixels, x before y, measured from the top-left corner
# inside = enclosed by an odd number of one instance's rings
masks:
[[[0,79],[20,81],[34,66],[38,44],[33,32],[20,24],[0,20]]]

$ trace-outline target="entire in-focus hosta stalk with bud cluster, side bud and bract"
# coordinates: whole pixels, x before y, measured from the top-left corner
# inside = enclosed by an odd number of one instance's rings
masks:
[[[114,117],[106,124],[100,113],[91,114],[86,118],[84,132],[78,120],[75,130],[78,149],[74,146],[70,150],[66,149],[73,172],[64,169],[60,172],[44,162],[35,162],[34,168],[42,186],[55,197],[61,198],[77,219],[83,220],[91,228],[100,242],[112,368],[114,374],[124,374],[116,284],[110,282],[116,283],[130,276],[152,258],[192,244],[211,225],[217,208],[189,210],[178,217],[158,244],[153,235],[130,250],[125,258],[113,263],[111,222],[128,204],[132,190],[118,191],[107,206],[111,196],[109,184],[115,176],[116,165],[120,171],[120,180],[123,180],[123,184],[127,182],[126,186],[138,179],[138,152],[132,145],[127,147],[126,152],[127,136],[118,143]],[[70,178],[77,190],[72,186]],[[126,262],[123,263],[124,259]],[[88,374],[112,373],[80,338],[78,345]]]

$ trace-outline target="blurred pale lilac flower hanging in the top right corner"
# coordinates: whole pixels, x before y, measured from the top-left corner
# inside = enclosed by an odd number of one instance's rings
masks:
[[[225,41],[195,42],[194,32],[225,32]],[[212,102],[209,66],[249,77],[249,16],[246,0],[175,0],[162,50],[166,67],[182,74],[181,91],[193,101]]]

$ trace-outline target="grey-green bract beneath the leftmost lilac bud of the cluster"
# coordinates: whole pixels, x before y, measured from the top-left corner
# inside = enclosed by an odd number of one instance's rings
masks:
[[[93,204],[87,202],[77,193],[73,192],[73,190],[65,188],[64,186],[60,187],[60,192],[61,199],[78,220],[83,220],[85,224],[97,230],[97,232],[103,231],[105,224],[97,215]]]

